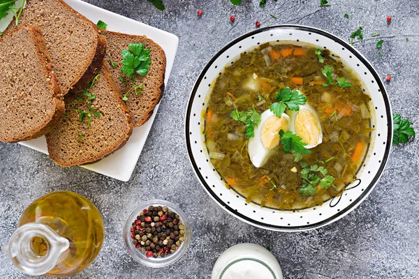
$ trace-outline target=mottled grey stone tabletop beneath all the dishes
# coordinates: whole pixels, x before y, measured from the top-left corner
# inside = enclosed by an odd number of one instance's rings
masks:
[[[193,174],[184,142],[186,103],[200,70],[228,41],[254,29],[256,20],[262,26],[309,25],[346,39],[364,27],[365,39],[355,47],[383,79],[392,75],[387,84],[392,109],[417,126],[418,1],[330,0],[331,7],[321,8],[318,0],[267,0],[266,8],[259,8],[256,0],[243,0],[237,7],[228,0],[163,0],[164,12],[145,0],[88,2],[179,36],[175,65],[156,121],[128,183],[80,167],[64,169],[24,146],[0,144],[0,245],[8,241],[32,200],[55,190],[72,190],[98,206],[106,227],[98,259],[74,278],[210,278],[223,250],[248,241],[270,245],[285,278],[419,278],[418,141],[392,149],[381,181],[358,209],[332,225],[303,233],[268,232],[223,211]],[[196,16],[199,8],[204,10],[200,18]],[[234,24],[229,22],[230,15],[236,17]],[[388,15],[391,24],[385,22]],[[383,57],[378,55],[378,38],[372,38],[372,33],[381,33],[385,40]],[[159,270],[133,262],[122,239],[125,218],[136,202],[154,198],[179,204],[193,232],[187,254]],[[0,253],[0,278],[26,277]]]

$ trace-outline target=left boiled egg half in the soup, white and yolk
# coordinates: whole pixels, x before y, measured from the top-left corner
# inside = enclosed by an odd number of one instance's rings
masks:
[[[276,116],[270,110],[260,114],[260,123],[255,127],[255,136],[249,139],[247,150],[251,163],[255,167],[262,167],[274,154],[274,148],[279,145],[279,131],[288,131],[290,116],[282,114]]]

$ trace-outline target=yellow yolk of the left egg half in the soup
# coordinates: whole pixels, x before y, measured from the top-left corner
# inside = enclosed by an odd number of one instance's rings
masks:
[[[278,146],[280,130],[288,130],[288,120],[284,116],[279,118],[272,115],[266,119],[260,130],[260,141],[265,149],[271,150]]]

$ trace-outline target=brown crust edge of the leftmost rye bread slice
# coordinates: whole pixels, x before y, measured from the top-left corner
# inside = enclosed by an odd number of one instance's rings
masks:
[[[61,93],[61,88],[57,81],[57,75],[52,71],[52,62],[50,58],[50,54],[47,52],[47,47],[45,45],[45,40],[43,39],[42,31],[39,27],[35,25],[24,25],[20,27],[19,29],[15,29],[8,33],[7,36],[3,36],[0,38],[0,43],[3,40],[8,40],[13,36],[14,33],[17,33],[19,31],[22,31],[22,29],[28,29],[31,34],[31,40],[34,43],[34,46],[36,47],[36,58],[38,59],[38,62],[41,66],[43,66],[43,77],[39,78],[48,78],[48,84],[50,85],[50,92],[52,93],[52,99],[54,102],[54,112],[50,114],[49,119],[45,119],[45,126],[34,128],[32,131],[27,131],[27,135],[22,135],[20,138],[2,138],[0,137],[0,140],[2,142],[20,142],[22,140],[32,140],[36,139],[38,137],[41,137],[48,133],[52,128],[57,126],[57,123],[61,120],[62,116],[64,115],[64,99],[63,95]]]

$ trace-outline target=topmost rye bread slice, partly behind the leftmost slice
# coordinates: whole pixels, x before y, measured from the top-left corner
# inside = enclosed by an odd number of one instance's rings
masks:
[[[27,0],[19,18],[21,24],[35,24],[43,31],[61,92],[82,90],[101,69],[106,39],[96,24],[61,0]],[[15,30],[15,21],[3,32]]]

